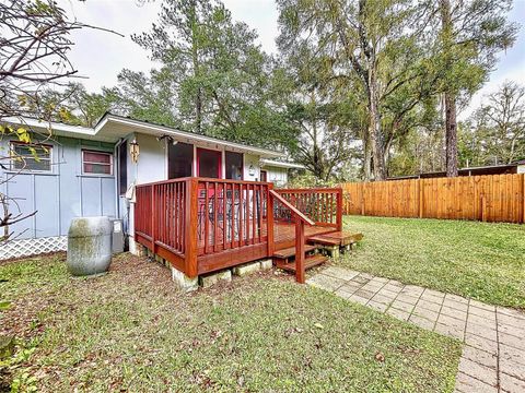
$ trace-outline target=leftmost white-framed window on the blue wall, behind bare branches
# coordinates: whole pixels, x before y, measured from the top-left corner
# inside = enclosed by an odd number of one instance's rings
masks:
[[[13,142],[11,148],[13,169],[51,171],[51,146]]]

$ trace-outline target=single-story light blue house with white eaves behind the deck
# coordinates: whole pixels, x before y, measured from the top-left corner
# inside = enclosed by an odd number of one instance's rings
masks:
[[[1,191],[13,201],[10,210],[36,211],[9,228],[13,240],[0,247],[0,260],[65,250],[70,222],[80,216],[119,218],[132,238],[129,200],[135,184],[196,176],[275,181],[282,187],[288,170],[301,168],[276,162],[283,156],[279,152],[109,112],[93,128],[35,119],[4,122],[27,127],[42,144],[34,146],[35,159],[28,145],[14,139],[0,141],[2,152],[25,157],[25,164],[12,160],[0,168]]]

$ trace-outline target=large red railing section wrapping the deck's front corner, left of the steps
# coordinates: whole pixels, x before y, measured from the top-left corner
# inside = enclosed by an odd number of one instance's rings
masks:
[[[265,258],[273,243],[271,188],[209,178],[137,186],[136,240],[189,277]]]

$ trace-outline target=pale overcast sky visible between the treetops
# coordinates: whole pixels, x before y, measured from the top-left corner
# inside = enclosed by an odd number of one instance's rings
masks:
[[[68,15],[79,21],[115,29],[125,37],[82,29],[75,33],[75,46],[71,60],[79,73],[88,79],[83,81],[91,92],[98,92],[102,86],[114,86],[117,74],[122,68],[135,71],[148,71],[154,64],[148,59],[148,52],[130,39],[132,33],[150,29],[156,20],[160,0],[140,5],[136,0],[58,0]],[[223,0],[232,12],[233,19],[246,22],[259,34],[259,41],[268,52],[276,51],[275,39],[278,35],[277,8],[273,0]],[[525,23],[525,0],[514,0],[510,15],[514,22]],[[494,91],[505,80],[525,85],[525,27],[521,26],[516,44],[500,55],[498,70],[490,76],[490,82],[472,99],[470,108],[462,114],[465,117],[471,108],[477,107],[482,97]]]

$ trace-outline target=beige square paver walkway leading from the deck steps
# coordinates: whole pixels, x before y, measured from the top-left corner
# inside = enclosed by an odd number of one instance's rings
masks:
[[[464,342],[456,392],[525,392],[524,313],[337,266],[307,283]]]

